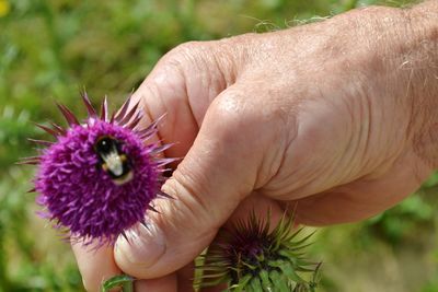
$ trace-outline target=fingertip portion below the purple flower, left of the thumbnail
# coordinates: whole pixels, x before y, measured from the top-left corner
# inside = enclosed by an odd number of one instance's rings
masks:
[[[80,242],[72,243],[71,247],[87,291],[101,291],[106,279],[120,273],[114,261],[113,247],[102,246],[95,249],[96,245],[84,246]]]

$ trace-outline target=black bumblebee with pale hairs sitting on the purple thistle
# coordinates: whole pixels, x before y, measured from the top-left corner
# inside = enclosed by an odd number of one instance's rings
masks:
[[[102,136],[94,143],[99,156],[99,167],[110,175],[116,185],[124,185],[132,179],[134,170],[122,142],[111,136]]]

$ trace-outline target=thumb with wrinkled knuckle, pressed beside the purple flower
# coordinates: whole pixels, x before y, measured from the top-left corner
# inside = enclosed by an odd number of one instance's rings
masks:
[[[254,127],[255,117],[239,104],[243,98],[234,86],[215,98],[193,147],[163,185],[175,199],[157,200],[160,213],[148,212],[150,226],[135,229],[129,242],[118,238],[115,260],[126,273],[149,279],[182,268],[209,245],[254,189],[263,129]]]

